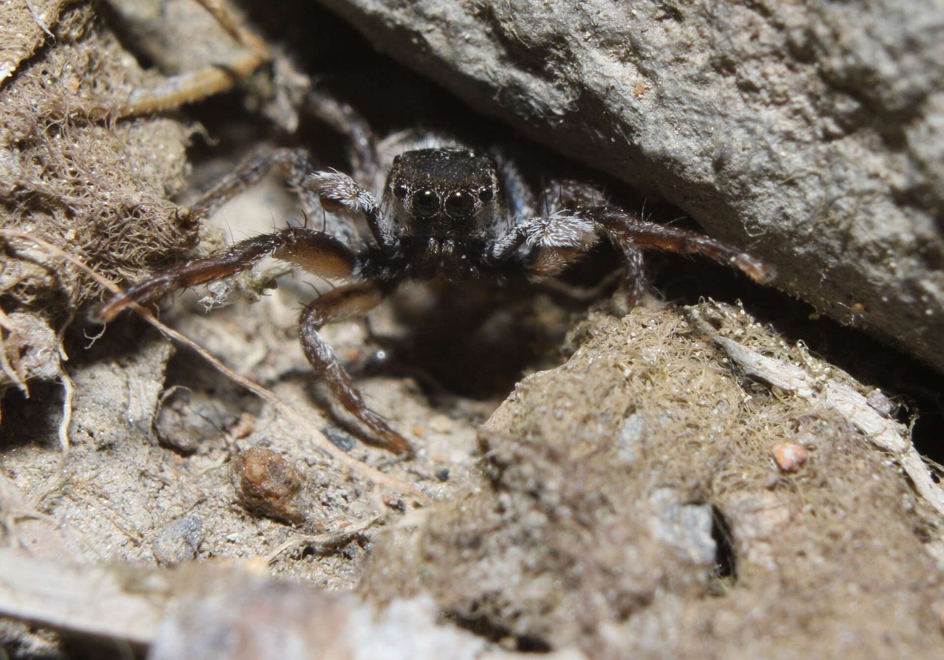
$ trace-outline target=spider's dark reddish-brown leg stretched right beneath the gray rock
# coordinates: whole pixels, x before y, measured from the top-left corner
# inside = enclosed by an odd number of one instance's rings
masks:
[[[617,207],[601,206],[586,211],[617,245],[635,245],[679,254],[700,254],[712,261],[739,269],[750,279],[766,283],[774,269],[734,245],[683,228],[667,227],[643,220]]]

